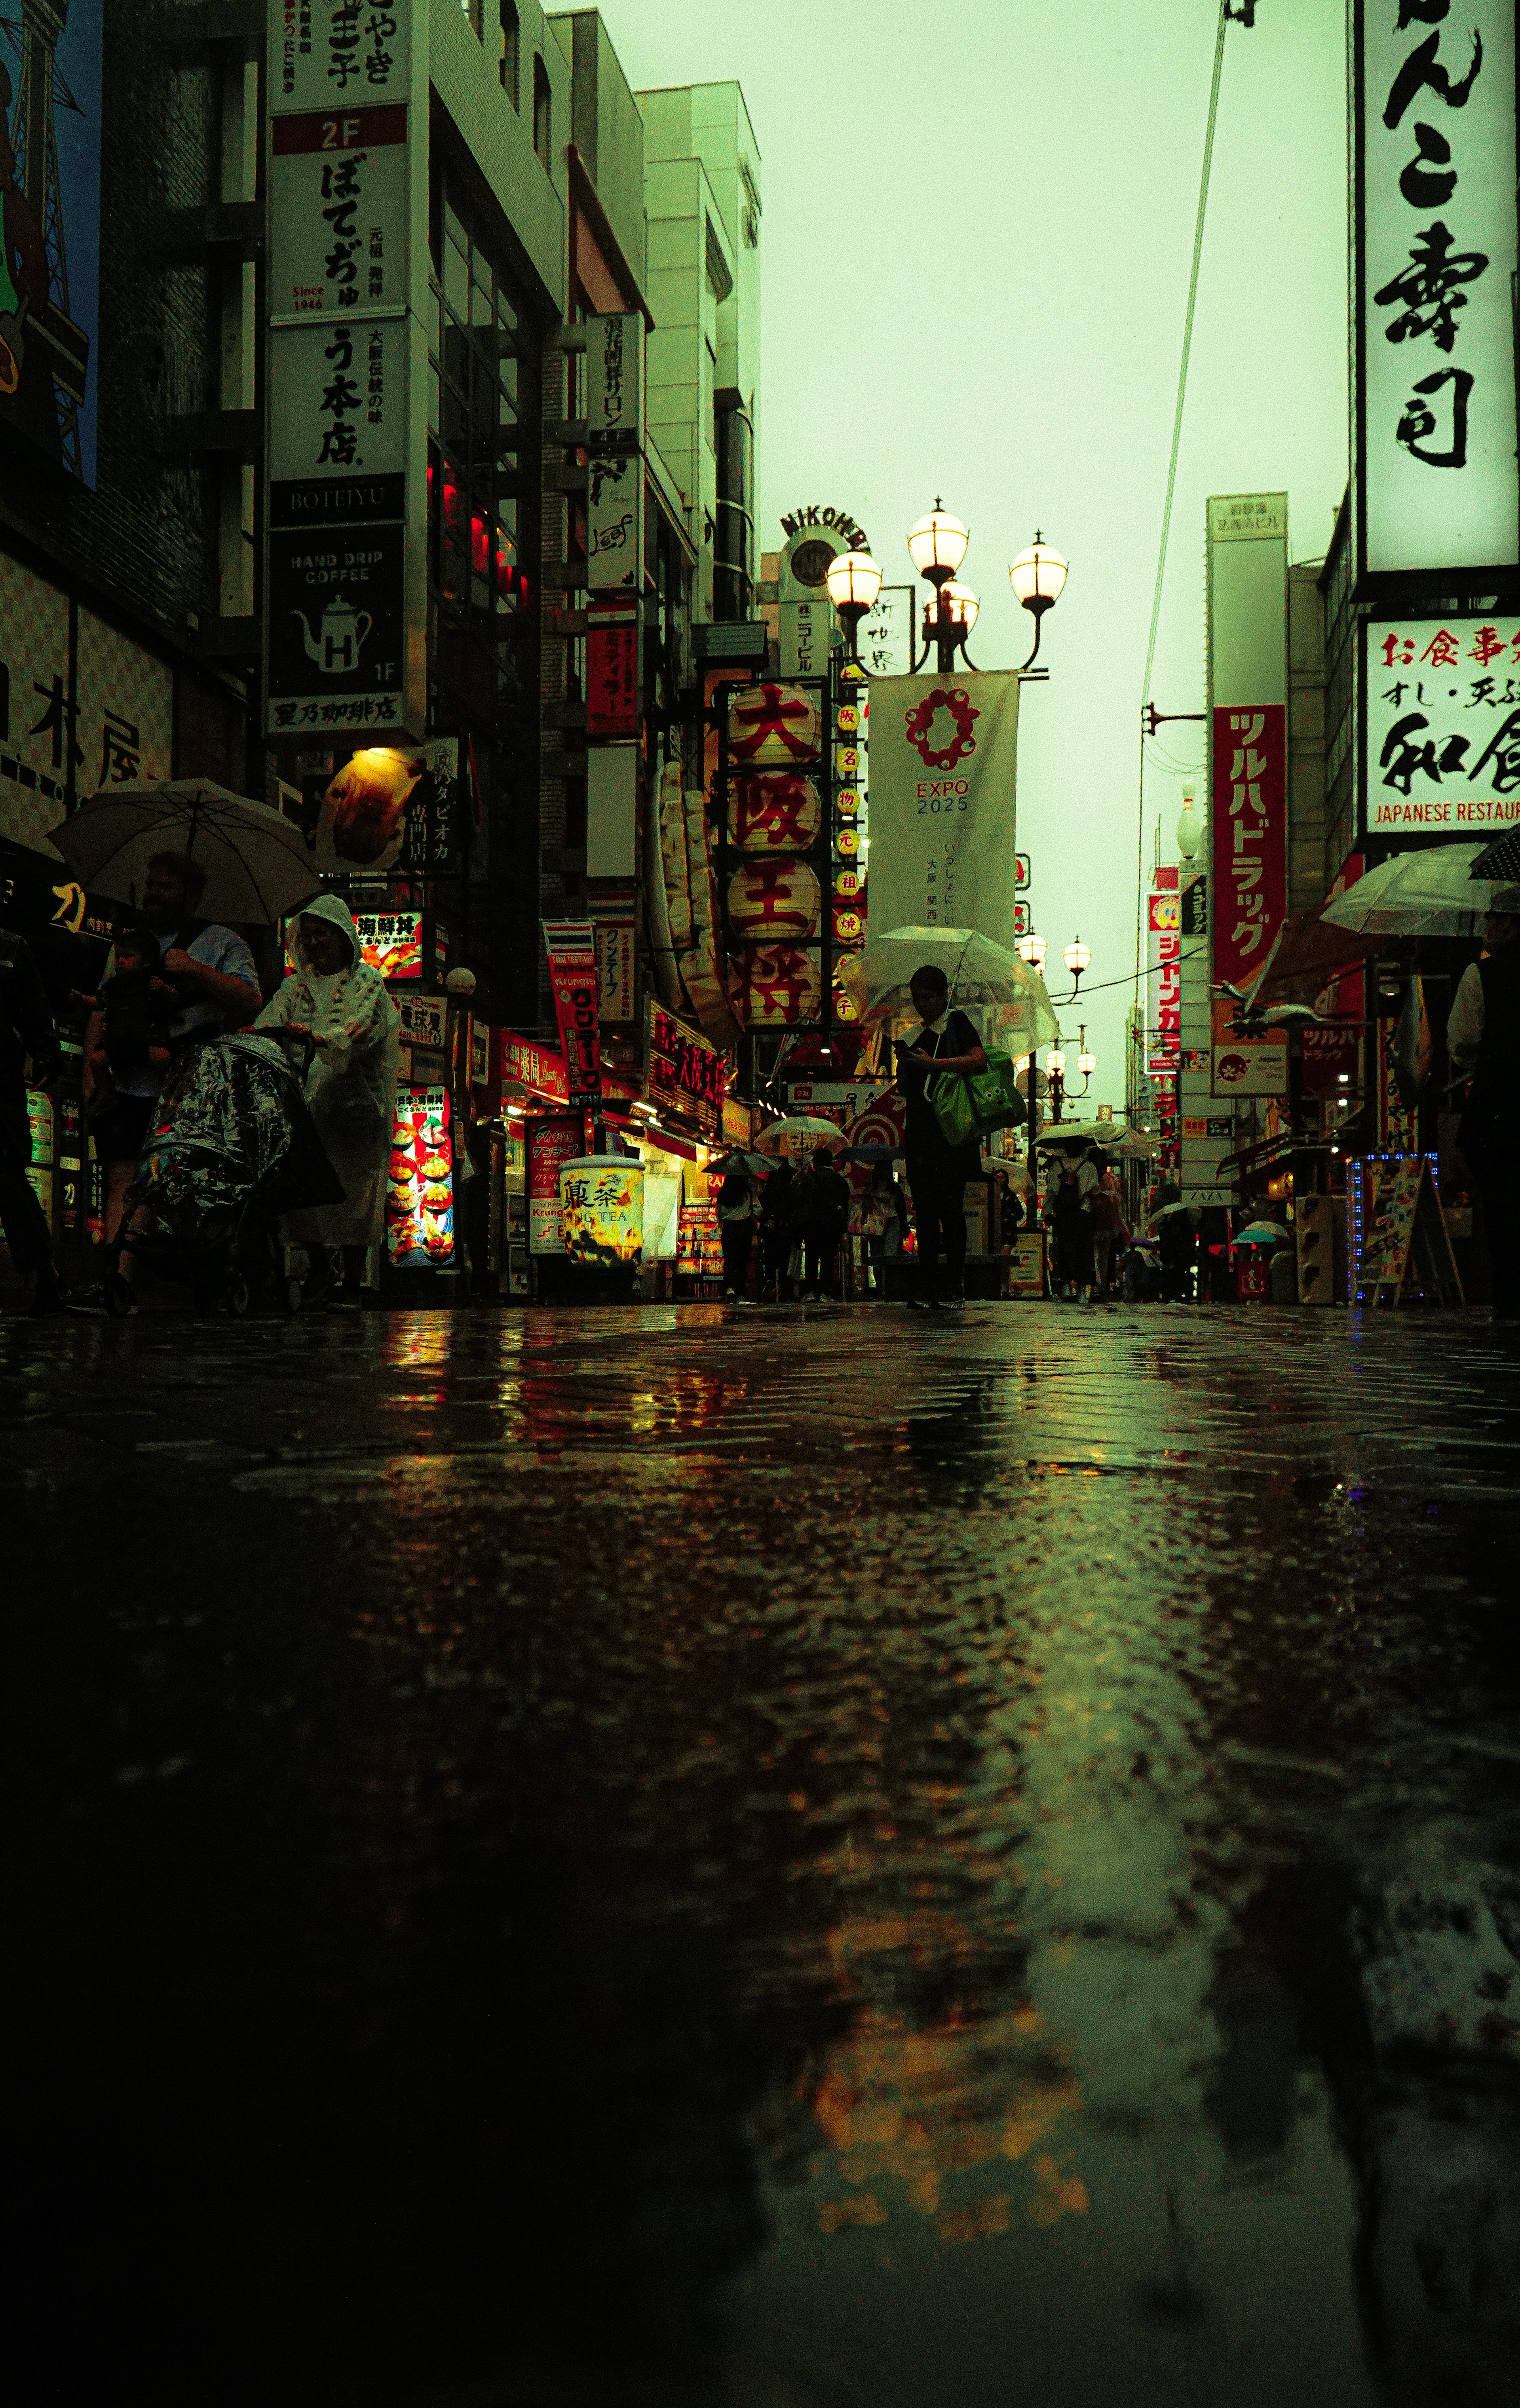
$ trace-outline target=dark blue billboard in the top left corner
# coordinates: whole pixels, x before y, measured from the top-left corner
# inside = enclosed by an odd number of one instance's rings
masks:
[[[0,438],[94,486],[104,0],[7,12]]]

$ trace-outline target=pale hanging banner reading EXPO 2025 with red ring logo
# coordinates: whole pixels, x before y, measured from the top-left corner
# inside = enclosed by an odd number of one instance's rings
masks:
[[[870,932],[973,927],[1012,949],[1019,679],[872,679]]]

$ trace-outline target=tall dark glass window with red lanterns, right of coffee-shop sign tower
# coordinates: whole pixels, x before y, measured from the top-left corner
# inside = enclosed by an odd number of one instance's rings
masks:
[[[429,696],[434,727],[508,739],[537,701],[540,344],[506,258],[438,169],[429,342]]]

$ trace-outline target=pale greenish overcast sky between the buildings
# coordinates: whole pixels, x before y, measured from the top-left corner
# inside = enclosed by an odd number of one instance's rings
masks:
[[[935,494],[971,527],[980,667],[1029,650],[1007,563],[1072,576],[1024,689],[1019,845],[1053,954],[1135,958],[1137,727],[1216,0],[602,0],[634,89],[737,77],[764,169],[759,544],[838,503],[889,578]],[[1226,39],[1151,696],[1202,710],[1207,494],[1286,489],[1320,559],[1347,482],[1347,99],[1337,0]],[[1202,727],[1161,730],[1178,763]],[[1180,771],[1147,768],[1147,838]],[[1055,987],[1053,987],[1055,992]],[[1125,987],[1094,995],[1123,1103]],[[1067,1014],[1074,1023],[1077,1014]],[[1074,1026],[1070,1031],[1074,1035]]]

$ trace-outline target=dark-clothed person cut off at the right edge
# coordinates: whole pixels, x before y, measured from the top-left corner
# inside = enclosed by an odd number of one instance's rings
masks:
[[[1445,1040],[1453,1076],[1472,1076],[1457,1127],[1462,1161],[1484,1209],[1494,1320],[1520,1322],[1520,913],[1491,910],[1481,961],[1467,966],[1453,997]]]

